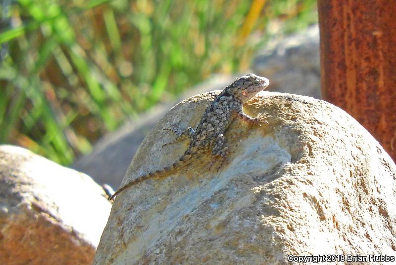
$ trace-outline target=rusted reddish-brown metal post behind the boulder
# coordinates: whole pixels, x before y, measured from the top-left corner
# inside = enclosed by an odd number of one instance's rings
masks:
[[[396,3],[318,0],[322,97],[396,161]]]

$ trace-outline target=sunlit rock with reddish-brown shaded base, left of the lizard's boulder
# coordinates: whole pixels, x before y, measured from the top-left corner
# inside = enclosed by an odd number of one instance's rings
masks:
[[[92,264],[110,208],[87,175],[0,146],[0,264]]]

